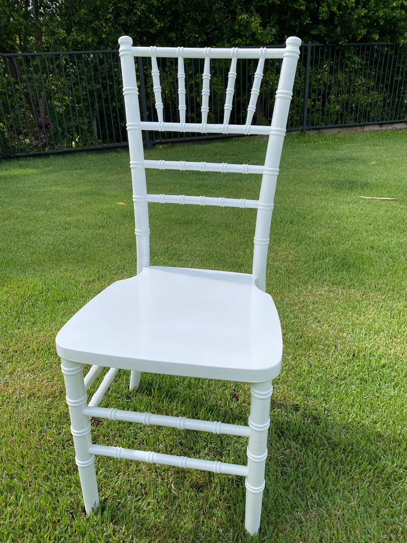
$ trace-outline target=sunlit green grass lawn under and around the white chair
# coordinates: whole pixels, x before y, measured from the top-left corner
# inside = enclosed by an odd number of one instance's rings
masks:
[[[264,149],[252,139],[149,155],[257,163]],[[405,172],[405,131],[287,136],[267,285],[284,359],[258,541],[407,540]],[[247,175],[159,180],[150,172],[151,192],[253,198],[259,186]],[[238,477],[98,458],[101,508],[82,512],[54,337],[136,273],[126,151],[3,162],[0,187],[0,541],[245,541]],[[254,221],[250,210],[151,205],[151,263],[250,272]],[[127,385],[123,372],[106,403],[246,421],[240,383],[144,374],[137,393]],[[94,430],[99,443],[245,461],[240,438]]]

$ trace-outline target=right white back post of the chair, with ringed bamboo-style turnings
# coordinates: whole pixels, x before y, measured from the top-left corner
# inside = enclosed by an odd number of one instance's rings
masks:
[[[295,69],[300,56],[301,40],[297,37],[289,37],[285,44],[286,47],[271,121],[269,143],[264,161],[254,239],[255,247],[253,251],[252,273],[256,277],[258,288],[262,291],[266,289],[267,255],[270,243],[270,225],[274,208],[274,194],[276,192],[279,162],[287,127],[292,87],[294,86]]]

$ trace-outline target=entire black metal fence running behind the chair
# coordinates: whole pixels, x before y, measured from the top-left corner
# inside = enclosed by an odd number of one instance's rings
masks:
[[[208,121],[221,123],[229,66],[213,62]],[[139,81],[144,120],[155,117],[148,63],[143,60]],[[164,119],[176,121],[176,62],[162,59],[159,67]],[[186,61],[188,122],[200,122],[202,70],[203,62]],[[231,122],[244,123],[255,71],[255,61],[240,61]],[[278,65],[270,60],[257,104],[260,124],[270,122],[277,84]],[[0,108],[0,157],[126,145],[116,50],[0,55]],[[407,44],[302,46],[289,130],[406,120]],[[145,143],[193,137],[202,136],[150,132]]]

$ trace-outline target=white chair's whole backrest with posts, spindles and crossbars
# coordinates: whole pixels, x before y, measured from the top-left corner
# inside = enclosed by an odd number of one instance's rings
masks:
[[[251,207],[257,209],[252,273],[257,278],[257,286],[264,291],[267,253],[270,241],[271,214],[274,207],[274,194],[279,171],[279,162],[287,127],[297,60],[300,56],[301,40],[297,37],[289,37],[286,41],[285,48],[132,47],[131,37],[122,36],[119,39],[119,45],[123,75],[126,126],[130,150],[133,202],[135,205],[136,217],[137,273],[140,273],[144,266],[149,266],[150,261],[149,202]],[[157,121],[141,121],[135,68],[135,58],[141,57],[148,57],[151,62],[151,77]],[[157,58],[177,59],[177,101],[179,104],[179,122],[164,121],[163,93]],[[185,59],[203,59],[200,123],[186,122]],[[221,124],[208,123],[211,59],[227,59],[230,61],[227,89],[225,92],[224,119]],[[247,106],[245,124],[231,124],[230,122],[234,87],[237,78],[238,59],[258,59],[257,69],[253,77],[250,102]],[[252,124],[253,115],[256,111],[260,84],[263,79],[265,59],[282,59],[272,120],[271,124],[266,126]],[[142,69],[143,68],[139,66],[139,70]],[[144,160],[142,130],[201,132],[202,134],[230,135],[258,134],[269,136],[269,141],[263,165]],[[262,174],[262,184],[258,200],[148,194],[145,178],[146,168],[179,169],[201,172],[256,173]]]

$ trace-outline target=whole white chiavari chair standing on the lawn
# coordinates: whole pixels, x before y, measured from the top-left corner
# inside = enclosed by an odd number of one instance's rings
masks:
[[[301,40],[289,37],[285,48],[195,49],[132,47],[131,38],[123,36],[119,44],[136,216],[137,275],[107,287],[78,311],[56,337],[85,509],[87,513],[98,509],[96,454],[142,460],[245,477],[245,527],[249,534],[255,534],[262,508],[272,379],[279,374],[282,358],[277,311],[271,296],[264,292],[266,260],[279,160]],[[135,57],[145,56],[150,58],[152,67],[155,122],[142,122],[139,112]],[[160,57],[177,59],[179,122],[176,123],[163,119],[161,74],[157,64]],[[201,123],[186,122],[186,58],[204,59]],[[264,61],[270,58],[282,59],[272,122],[267,126],[252,125]],[[230,61],[222,124],[207,123],[211,59]],[[258,65],[246,122],[233,125],[230,114],[238,59],[258,59]],[[142,130],[258,134],[268,136],[268,147],[264,165],[144,160]],[[148,194],[147,168],[262,174],[262,185],[258,200]],[[252,274],[150,266],[150,202],[257,209]],[[84,364],[91,365],[85,378]],[[110,369],[88,402],[86,390],[103,367]],[[251,383],[249,424],[239,426],[98,407],[119,369],[131,370],[131,389],[138,387],[143,371]],[[247,465],[96,445],[91,440],[92,417],[245,436],[249,439]]]

